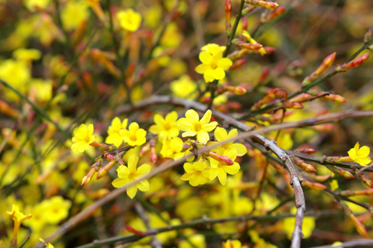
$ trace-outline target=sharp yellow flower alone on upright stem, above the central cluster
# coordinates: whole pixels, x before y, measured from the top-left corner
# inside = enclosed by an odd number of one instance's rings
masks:
[[[214,53],[210,53],[210,51]],[[203,74],[203,78],[207,83],[214,80],[225,78],[225,71],[232,65],[232,61],[228,58],[223,58],[221,49],[208,49],[199,53],[201,65],[196,67],[196,72]]]

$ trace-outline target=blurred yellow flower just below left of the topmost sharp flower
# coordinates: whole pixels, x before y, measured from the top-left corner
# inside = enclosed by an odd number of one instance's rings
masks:
[[[183,99],[194,99],[197,95],[197,85],[188,75],[183,75],[170,84],[170,89],[174,96]]]

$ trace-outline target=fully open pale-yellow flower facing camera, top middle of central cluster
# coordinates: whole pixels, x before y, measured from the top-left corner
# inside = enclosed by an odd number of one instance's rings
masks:
[[[210,123],[211,118],[211,110],[205,112],[201,121],[199,121],[199,115],[195,110],[188,110],[185,113],[186,118],[180,118],[177,121],[177,127],[179,130],[185,131],[183,132],[182,136],[197,136],[197,140],[203,144],[208,143],[210,137],[208,136],[208,132],[214,130],[218,123],[216,121],[212,121]]]

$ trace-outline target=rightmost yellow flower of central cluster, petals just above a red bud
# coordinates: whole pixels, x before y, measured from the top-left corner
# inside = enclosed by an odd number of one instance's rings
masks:
[[[227,130],[225,130],[223,127],[216,127],[216,130],[214,132],[214,136],[216,138],[216,141],[222,142],[227,139],[233,138],[237,136],[239,132],[236,129],[230,130],[229,134],[227,134]],[[217,142],[211,141],[208,143],[208,145],[216,144]],[[221,145],[225,150],[235,149],[237,152],[237,156],[243,156],[248,152],[245,145],[239,144],[239,143],[233,143],[233,141],[229,143],[225,143],[224,145]],[[212,151],[219,150],[220,147],[216,147],[212,149]]]

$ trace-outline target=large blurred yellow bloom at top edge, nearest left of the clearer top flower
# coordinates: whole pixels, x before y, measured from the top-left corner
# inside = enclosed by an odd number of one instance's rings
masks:
[[[68,1],[61,12],[63,28],[72,31],[86,21],[90,15],[86,1]]]

